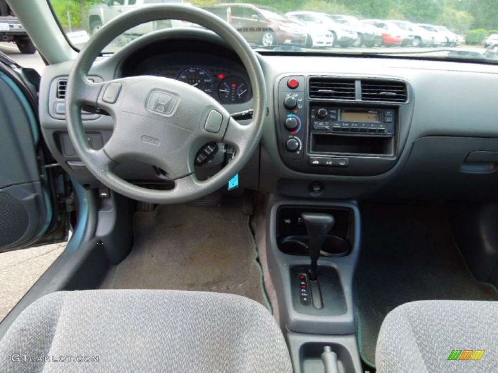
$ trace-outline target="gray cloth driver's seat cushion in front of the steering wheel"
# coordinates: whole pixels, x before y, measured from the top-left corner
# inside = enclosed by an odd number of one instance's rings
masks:
[[[68,358],[87,356],[98,362]],[[281,373],[292,366],[273,317],[249,298],[86,290],[55,292],[26,308],[0,341],[0,372]]]

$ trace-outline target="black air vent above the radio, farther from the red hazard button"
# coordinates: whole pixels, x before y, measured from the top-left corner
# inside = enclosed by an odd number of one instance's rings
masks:
[[[406,102],[407,98],[402,82],[362,80],[362,101]]]

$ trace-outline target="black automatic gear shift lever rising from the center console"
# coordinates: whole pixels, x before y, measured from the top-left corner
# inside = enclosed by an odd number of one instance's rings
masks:
[[[334,226],[334,216],[330,214],[321,214],[315,212],[303,212],[301,218],[304,220],[306,230],[308,231],[309,252],[311,257],[310,280],[315,281],[318,277],[318,258],[322,249],[323,241]]]

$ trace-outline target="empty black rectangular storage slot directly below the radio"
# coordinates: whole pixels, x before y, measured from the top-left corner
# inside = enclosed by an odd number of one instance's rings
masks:
[[[311,153],[393,155],[393,137],[340,136],[313,133]]]

